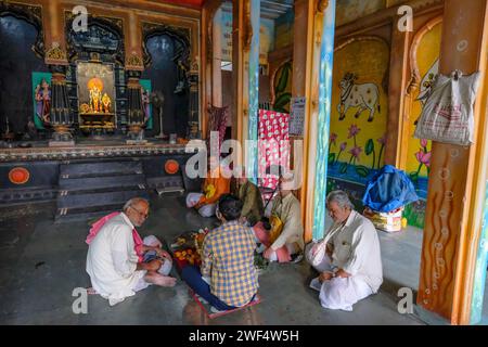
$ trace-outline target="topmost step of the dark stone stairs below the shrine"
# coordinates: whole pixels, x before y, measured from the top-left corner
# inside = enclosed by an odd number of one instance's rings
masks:
[[[60,178],[142,174],[142,162],[72,163],[60,166]]]

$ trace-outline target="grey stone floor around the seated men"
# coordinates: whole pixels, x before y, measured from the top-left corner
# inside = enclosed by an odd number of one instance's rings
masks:
[[[317,292],[308,288],[312,273],[304,261],[271,266],[259,278],[261,304],[214,320],[181,281],[172,288],[149,287],[115,307],[89,296],[88,313],[75,314],[72,293],[89,285],[84,242],[88,223],[54,224],[52,214],[44,207],[38,214],[0,219],[0,324],[422,324],[414,316],[398,313],[398,298],[387,290],[355,305],[354,312],[321,308]],[[152,214],[139,231],[170,240],[213,222],[185,209],[182,196],[154,196]],[[388,244],[397,245],[384,236],[388,234],[381,237],[385,277],[398,282],[402,275],[398,271],[395,278],[388,259],[395,254],[401,259],[408,252],[389,250]],[[410,271],[409,265],[399,267]],[[411,271],[406,278],[414,278]]]

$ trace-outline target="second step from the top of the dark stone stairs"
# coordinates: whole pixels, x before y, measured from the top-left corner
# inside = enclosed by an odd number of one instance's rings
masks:
[[[60,193],[67,191],[67,194],[80,191],[92,191],[99,189],[128,188],[145,185],[144,175],[105,176],[105,177],[84,177],[84,178],[60,178]]]

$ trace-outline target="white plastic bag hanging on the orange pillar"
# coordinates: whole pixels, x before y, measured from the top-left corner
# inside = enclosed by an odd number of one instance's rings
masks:
[[[473,104],[479,75],[462,76],[460,70],[450,76],[437,75],[414,137],[460,145],[473,143]]]

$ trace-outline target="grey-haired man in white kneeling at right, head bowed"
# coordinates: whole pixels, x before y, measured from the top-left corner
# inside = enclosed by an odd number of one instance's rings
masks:
[[[320,291],[322,307],[351,311],[354,304],[376,293],[383,282],[380,241],[373,223],[354,210],[345,192],[331,192],[326,207],[334,224],[306,250],[308,261],[320,272],[310,286]]]

